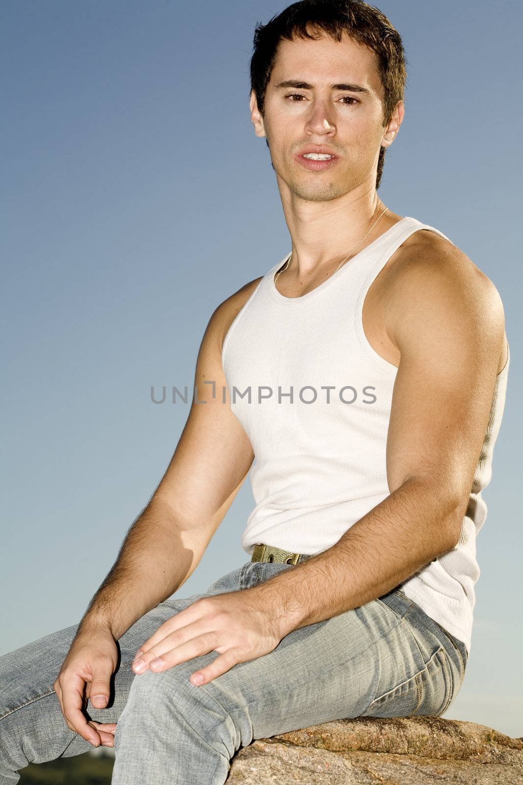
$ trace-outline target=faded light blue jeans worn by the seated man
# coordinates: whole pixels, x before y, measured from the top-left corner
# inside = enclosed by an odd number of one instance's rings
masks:
[[[231,758],[253,739],[343,717],[438,716],[463,681],[464,644],[394,590],[379,600],[292,630],[272,652],[238,663],[201,687],[209,652],[160,674],[131,668],[143,641],[200,597],[255,586],[293,564],[247,562],[204,594],[169,599],[122,635],[114,692],[89,717],[118,722],[114,785],[222,785]],[[19,769],[92,747],[67,727],[53,690],[77,625],[0,657],[0,785]]]

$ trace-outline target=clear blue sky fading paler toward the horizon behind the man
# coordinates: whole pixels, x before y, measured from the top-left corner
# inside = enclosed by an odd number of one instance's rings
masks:
[[[445,715],[523,736],[521,3],[383,0],[408,59],[380,198],[501,294],[511,361],[483,496],[463,688]],[[176,447],[212,311],[290,250],[249,113],[257,22],[285,4],[3,0],[0,653],[78,623]],[[187,597],[249,560],[245,480]]]

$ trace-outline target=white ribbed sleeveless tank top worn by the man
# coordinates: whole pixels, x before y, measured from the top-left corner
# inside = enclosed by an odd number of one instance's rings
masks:
[[[380,270],[419,229],[449,240],[404,217],[298,298],[274,286],[288,254],[263,276],[227,331],[222,362],[231,409],[255,455],[256,506],[242,534],[246,553],[256,542],[319,553],[390,495],[387,429],[398,369],[372,349],[361,314]],[[487,513],[481,490],[492,476],[509,362],[510,353],[496,378],[459,543],[402,586],[467,651],[479,577],[475,538]]]

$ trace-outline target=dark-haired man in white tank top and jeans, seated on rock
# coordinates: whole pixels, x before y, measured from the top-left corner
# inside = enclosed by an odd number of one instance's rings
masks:
[[[0,660],[0,783],[89,743],[115,745],[114,783],[223,783],[254,738],[456,696],[508,344],[492,282],[377,196],[404,82],[365,3],[257,28],[291,254],[213,312],[173,459],[82,622]],[[252,560],[169,600],[251,466]]]

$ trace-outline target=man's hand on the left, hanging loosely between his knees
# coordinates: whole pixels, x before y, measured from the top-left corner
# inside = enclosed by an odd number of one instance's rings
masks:
[[[100,747],[100,744],[114,747],[116,724],[87,721],[83,710],[89,698],[96,709],[107,705],[111,676],[117,663],[118,649],[114,637],[103,628],[91,628],[89,633],[74,638],[53,684],[67,727],[93,747]],[[97,696],[103,696],[103,699],[99,701]]]

